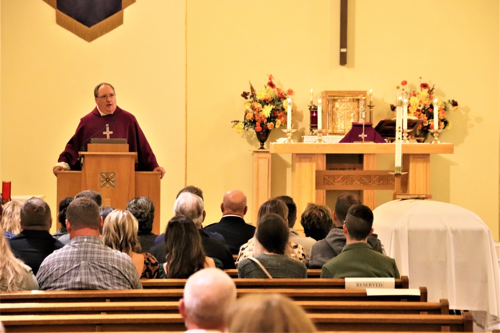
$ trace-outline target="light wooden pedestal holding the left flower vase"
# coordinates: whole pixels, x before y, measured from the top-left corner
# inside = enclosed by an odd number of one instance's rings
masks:
[[[257,221],[258,208],[271,197],[271,153],[256,149],[253,156],[252,218]]]

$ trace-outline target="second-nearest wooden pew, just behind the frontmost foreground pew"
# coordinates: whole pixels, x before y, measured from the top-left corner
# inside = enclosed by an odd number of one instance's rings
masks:
[[[307,313],[370,313],[448,315],[447,300],[427,302],[295,301]],[[79,302],[0,304],[0,314],[19,315],[96,315],[96,314],[176,314],[178,302]]]

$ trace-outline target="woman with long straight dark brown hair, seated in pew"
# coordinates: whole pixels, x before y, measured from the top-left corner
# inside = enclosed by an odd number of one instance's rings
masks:
[[[158,271],[160,279],[187,279],[203,268],[215,267],[213,259],[205,256],[194,222],[183,215],[172,217],[166,225],[165,253],[165,263]]]

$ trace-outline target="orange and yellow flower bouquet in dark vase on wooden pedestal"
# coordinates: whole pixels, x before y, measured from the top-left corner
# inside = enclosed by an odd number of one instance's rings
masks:
[[[269,75],[267,84],[260,90],[255,91],[250,81],[250,91],[243,91],[241,97],[246,101],[244,120],[233,120],[232,127],[236,132],[255,129],[256,132],[278,128],[286,122],[287,98],[293,94],[293,90],[286,92],[277,87],[274,77]]]

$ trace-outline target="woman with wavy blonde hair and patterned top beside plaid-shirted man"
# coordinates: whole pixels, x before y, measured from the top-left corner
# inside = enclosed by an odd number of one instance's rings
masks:
[[[139,253],[138,222],[129,211],[114,210],[106,216],[102,242],[113,250],[126,253],[133,261],[141,279],[154,279],[159,264],[150,253]]]

